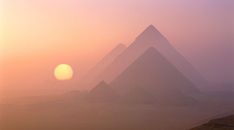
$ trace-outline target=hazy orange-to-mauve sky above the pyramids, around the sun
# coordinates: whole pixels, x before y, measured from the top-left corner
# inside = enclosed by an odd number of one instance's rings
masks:
[[[40,89],[54,80],[59,63],[71,64],[78,78],[149,24],[207,79],[232,80],[233,0],[1,0],[1,6],[5,93]]]

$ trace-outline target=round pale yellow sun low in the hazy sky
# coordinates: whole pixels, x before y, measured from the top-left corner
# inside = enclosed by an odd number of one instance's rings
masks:
[[[59,64],[54,69],[54,76],[57,80],[70,80],[73,77],[73,69],[68,64]]]

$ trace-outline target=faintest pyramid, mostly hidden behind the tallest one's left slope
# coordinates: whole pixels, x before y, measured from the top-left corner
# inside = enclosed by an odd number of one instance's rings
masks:
[[[114,49],[112,49],[102,60],[97,63],[84,77],[81,77],[79,86],[82,88],[91,88],[97,85],[102,79],[99,79],[98,76],[109,66],[114,59],[120,55],[126,46],[124,44],[118,44]]]

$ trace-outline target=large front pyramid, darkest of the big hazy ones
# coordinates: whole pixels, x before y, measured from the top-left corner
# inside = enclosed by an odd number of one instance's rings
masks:
[[[163,104],[188,104],[194,101],[190,96],[199,93],[193,83],[153,47],[110,85],[127,100]]]

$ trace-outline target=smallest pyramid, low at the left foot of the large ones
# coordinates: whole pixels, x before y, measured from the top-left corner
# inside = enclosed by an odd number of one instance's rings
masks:
[[[109,102],[115,98],[114,90],[104,81],[95,86],[87,96],[87,99],[92,102]]]

